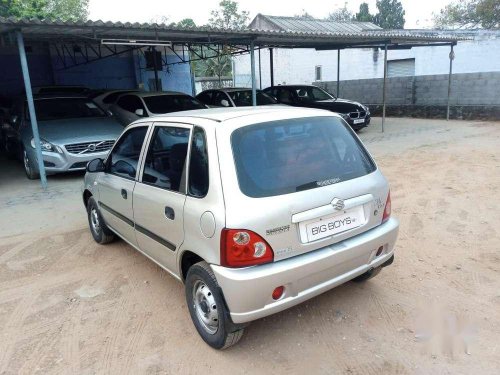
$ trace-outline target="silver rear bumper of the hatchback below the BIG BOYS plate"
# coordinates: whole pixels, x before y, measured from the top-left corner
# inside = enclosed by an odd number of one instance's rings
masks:
[[[390,261],[398,229],[398,220],[391,218],[368,232],[308,254],[256,267],[212,265],[212,269],[233,322],[250,322],[295,306]],[[384,250],[376,256],[380,246]],[[271,294],[281,285],[284,295],[275,301]]]

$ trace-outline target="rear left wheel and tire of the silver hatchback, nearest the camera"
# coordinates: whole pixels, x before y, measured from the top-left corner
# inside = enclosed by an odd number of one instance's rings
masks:
[[[244,329],[231,321],[221,289],[208,263],[199,262],[191,266],[185,292],[193,324],[208,345],[223,350],[240,341]]]

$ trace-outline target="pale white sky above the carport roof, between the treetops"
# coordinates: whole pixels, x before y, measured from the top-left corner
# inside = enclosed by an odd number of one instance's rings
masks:
[[[406,11],[405,28],[432,27],[432,14],[439,12],[452,0],[401,0]],[[151,22],[167,17],[169,22],[192,18],[197,25],[206,24],[210,11],[218,8],[220,0],[90,0],[89,19],[103,21]],[[275,16],[294,16],[303,10],[317,18],[324,18],[347,4],[353,13],[367,2],[370,13],[376,13],[375,0],[239,0],[241,10],[250,13],[250,20],[258,13]]]

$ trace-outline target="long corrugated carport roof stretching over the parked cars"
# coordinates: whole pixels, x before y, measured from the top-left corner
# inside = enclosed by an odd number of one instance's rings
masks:
[[[260,47],[337,49],[363,46],[451,44],[467,38],[440,32],[409,30],[282,31],[222,30],[208,26],[178,27],[157,23],[61,21],[0,17],[0,34],[22,31],[26,40],[100,41],[163,40],[178,44],[248,44]]]

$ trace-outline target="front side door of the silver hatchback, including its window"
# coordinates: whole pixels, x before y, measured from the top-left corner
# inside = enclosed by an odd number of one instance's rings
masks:
[[[139,157],[148,126],[126,131],[106,160],[106,172],[99,177],[99,208],[106,224],[123,239],[137,245],[132,199]]]

